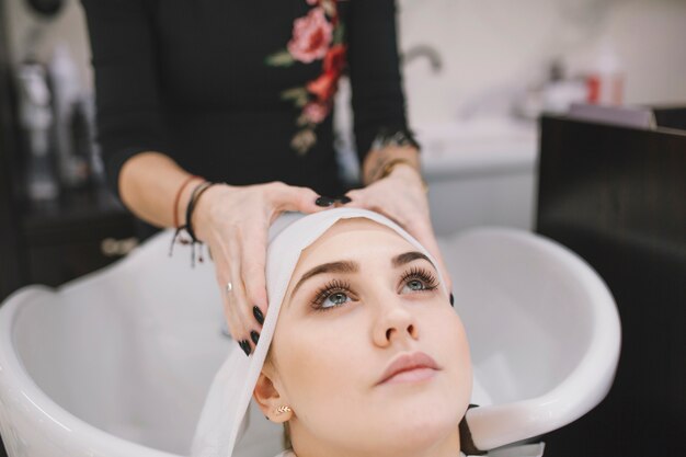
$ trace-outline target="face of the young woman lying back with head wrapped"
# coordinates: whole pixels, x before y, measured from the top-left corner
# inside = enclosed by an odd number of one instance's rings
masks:
[[[459,448],[471,393],[462,324],[434,265],[369,219],[340,220],[302,252],[265,373],[293,409],[296,452]]]

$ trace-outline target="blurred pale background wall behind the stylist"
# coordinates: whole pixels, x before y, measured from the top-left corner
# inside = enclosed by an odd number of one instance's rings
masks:
[[[686,100],[683,0],[399,0],[399,9],[401,49],[427,45],[442,60],[438,73],[419,59],[405,68],[414,124],[504,110],[508,96],[545,79],[553,60],[583,72],[603,46],[625,70],[627,103]],[[21,0],[8,0],[7,14],[15,61],[32,53],[47,60],[66,42],[91,90],[78,0],[49,22]]]

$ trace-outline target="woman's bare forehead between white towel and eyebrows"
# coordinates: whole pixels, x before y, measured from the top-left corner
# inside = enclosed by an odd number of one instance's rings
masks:
[[[396,230],[371,219],[341,219],[302,251],[298,269],[311,263],[340,260],[342,254],[382,249],[407,250],[413,249],[413,245]]]

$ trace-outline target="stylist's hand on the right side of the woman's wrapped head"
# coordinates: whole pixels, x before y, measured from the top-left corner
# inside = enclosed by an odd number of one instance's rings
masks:
[[[428,199],[420,173],[409,164],[396,165],[389,175],[364,188],[346,193],[352,202],[346,207],[364,208],[381,213],[402,226],[422,243],[438,263],[446,283],[453,290],[453,282],[438,249],[428,213]]]

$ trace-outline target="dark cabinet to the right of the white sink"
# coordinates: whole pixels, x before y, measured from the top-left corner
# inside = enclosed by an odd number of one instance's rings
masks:
[[[537,231],[598,272],[622,328],[613,389],[546,437],[550,456],[686,455],[686,108],[655,117],[541,121]]]

